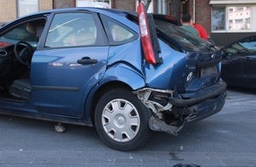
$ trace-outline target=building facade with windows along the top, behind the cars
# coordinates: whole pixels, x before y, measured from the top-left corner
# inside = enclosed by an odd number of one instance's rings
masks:
[[[136,11],[139,0],[8,0],[0,1],[0,22],[35,11],[94,6]],[[147,12],[168,14],[179,5],[177,18],[190,13],[219,46],[256,33],[256,0],[147,0]]]

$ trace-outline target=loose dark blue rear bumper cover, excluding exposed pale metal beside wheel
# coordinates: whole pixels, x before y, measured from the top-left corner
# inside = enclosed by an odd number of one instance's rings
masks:
[[[183,117],[179,126],[168,125],[165,121],[152,116],[149,127],[154,131],[164,131],[169,134],[177,134],[185,124],[205,119],[222,110],[226,98],[227,84],[222,80],[211,87],[202,89],[196,93],[179,95],[185,98],[169,98],[175,114]],[[191,98],[190,98],[191,97]]]

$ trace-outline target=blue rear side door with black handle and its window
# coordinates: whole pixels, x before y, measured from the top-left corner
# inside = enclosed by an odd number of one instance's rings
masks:
[[[82,117],[87,93],[101,80],[109,45],[94,13],[56,13],[35,51],[31,80],[41,113]]]

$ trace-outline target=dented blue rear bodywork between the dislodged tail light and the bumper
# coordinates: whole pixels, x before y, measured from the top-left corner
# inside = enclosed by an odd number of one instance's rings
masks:
[[[217,84],[220,80],[222,57],[220,50],[208,52],[179,52],[159,40],[162,52],[162,64],[145,64],[146,83],[156,89],[177,90],[179,93],[195,92]],[[215,62],[216,61],[216,62]],[[207,67],[200,68],[200,63],[213,62]],[[207,76],[200,76],[200,70],[212,68]],[[210,69],[211,70],[211,69]],[[211,74],[211,72],[213,74]]]

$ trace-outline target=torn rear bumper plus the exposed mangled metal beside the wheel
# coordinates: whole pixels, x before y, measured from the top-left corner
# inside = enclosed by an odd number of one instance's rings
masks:
[[[150,88],[134,93],[154,113],[148,122],[149,127],[154,131],[176,135],[184,124],[220,112],[225,102],[225,91],[226,84],[220,81],[218,84],[188,94]],[[183,98],[184,96],[186,98]]]

